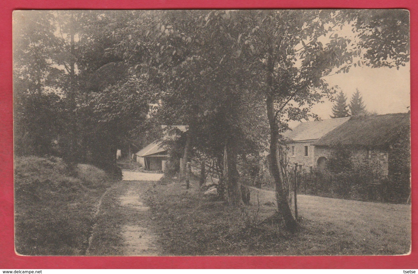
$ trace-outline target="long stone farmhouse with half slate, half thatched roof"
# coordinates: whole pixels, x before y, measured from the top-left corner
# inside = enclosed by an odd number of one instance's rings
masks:
[[[285,132],[289,163],[300,170],[323,168],[341,146],[352,152],[352,161],[367,162],[383,175],[391,169],[390,156],[401,144],[410,145],[410,114],[396,113],[327,119],[301,123]]]

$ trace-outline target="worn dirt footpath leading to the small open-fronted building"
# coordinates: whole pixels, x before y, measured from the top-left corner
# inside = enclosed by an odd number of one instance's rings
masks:
[[[161,247],[153,232],[157,228],[145,200],[162,174],[122,170],[122,175],[123,180],[102,197],[86,255],[158,256]]]

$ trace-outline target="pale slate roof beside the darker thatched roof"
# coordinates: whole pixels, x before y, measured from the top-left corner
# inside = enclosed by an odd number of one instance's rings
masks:
[[[293,130],[286,131],[283,136],[292,141],[317,140],[349,119],[350,117],[345,117],[300,123]]]

